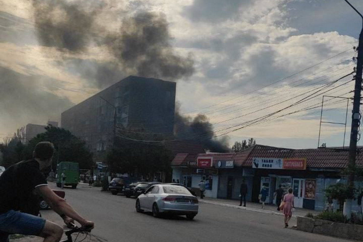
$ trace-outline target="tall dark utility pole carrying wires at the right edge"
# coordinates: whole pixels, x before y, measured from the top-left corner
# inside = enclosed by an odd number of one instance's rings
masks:
[[[363,16],[355,9],[348,0],[344,0],[347,4],[350,5],[357,12],[360,17]],[[362,47],[362,48],[360,48]],[[350,132],[350,144],[349,144],[349,164],[348,167],[349,173],[347,177],[347,185],[351,188],[354,187],[354,171],[352,170],[355,166],[355,158],[357,152],[357,138],[358,138],[358,128],[360,124],[360,113],[359,113],[359,106],[360,106],[360,91],[362,90],[362,69],[363,69],[363,24],[362,30],[359,34],[359,44],[358,44],[358,61],[356,67],[356,75],[355,75],[355,87],[354,87],[354,102],[353,102],[353,110],[352,110],[352,126]],[[348,219],[351,217],[351,209],[352,209],[352,200],[346,200],[344,204],[343,213],[347,216]]]

